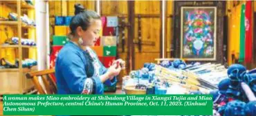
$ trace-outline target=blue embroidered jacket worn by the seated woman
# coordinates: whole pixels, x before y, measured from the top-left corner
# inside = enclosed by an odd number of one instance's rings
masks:
[[[95,52],[87,47],[80,49],[72,42],[66,43],[57,55],[55,76],[58,94],[103,94],[104,85],[100,76],[107,72]],[[117,82],[107,80],[111,86]]]

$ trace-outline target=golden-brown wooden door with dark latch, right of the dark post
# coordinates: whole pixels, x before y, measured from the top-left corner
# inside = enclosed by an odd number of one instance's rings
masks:
[[[155,45],[142,45],[141,52],[135,45],[135,69],[141,69],[145,62],[155,62],[160,57],[161,37],[161,1],[135,1],[135,14],[157,14],[156,18],[141,18],[141,39],[143,42],[154,42]],[[138,19],[135,19],[134,39],[138,39]]]

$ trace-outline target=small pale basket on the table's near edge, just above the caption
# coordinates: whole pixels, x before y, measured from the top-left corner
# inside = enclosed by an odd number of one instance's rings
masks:
[[[147,91],[145,89],[135,89],[134,85],[125,86],[125,93],[127,95],[145,95]]]

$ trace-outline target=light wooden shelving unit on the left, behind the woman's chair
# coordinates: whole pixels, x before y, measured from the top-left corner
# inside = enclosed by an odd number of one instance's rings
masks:
[[[17,14],[18,21],[0,21],[0,25],[9,26],[12,27],[15,32],[15,35],[18,38],[22,38],[24,34],[22,34],[23,30],[26,29],[36,29],[33,25],[26,25],[26,23],[23,23],[21,21],[21,16],[23,16],[23,13],[27,14],[28,17],[35,17],[35,5],[30,5],[26,3],[25,0],[5,0],[1,1],[1,3],[5,4],[7,6],[7,9],[11,9],[12,12],[15,12]],[[33,3],[35,4],[35,3]],[[3,10],[5,8],[2,8]],[[27,13],[26,13],[27,12]],[[31,13],[30,13],[31,12]],[[34,13],[33,13],[34,12]],[[9,13],[9,12],[7,12]],[[32,18],[35,20],[35,18]],[[17,28],[17,29],[15,29]],[[33,36],[32,38],[35,38],[35,32],[34,31],[28,31],[28,36]],[[0,38],[1,39],[1,38]],[[19,41],[21,42],[21,41]],[[0,49],[13,49],[13,54],[19,54],[18,56],[15,56],[15,58],[18,58],[19,61],[24,60],[24,58],[29,57],[30,55],[30,48],[36,49],[36,46],[28,46],[28,45],[8,45],[8,44],[0,44]],[[31,49],[31,50],[32,50]],[[24,52],[24,50],[26,52]],[[34,50],[31,51],[34,54]],[[37,54],[37,53],[35,53]],[[34,56],[33,56],[34,58]],[[34,58],[37,60],[37,58]],[[19,62],[21,64],[21,62]],[[34,86],[33,81],[26,78],[26,73],[30,71],[37,71],[37,66],[31,67],[31,68],[22,68],[19,66],[19,68],[16,69],[0,69],[0,95],[3,94],[22,94],[27,93],[28,90],[30,91],[30,88]],[[34,93],[35,91],[30,91]],[[0,96],[1,97],[1,96]],[[1,110],[0,110],[1,112]]]

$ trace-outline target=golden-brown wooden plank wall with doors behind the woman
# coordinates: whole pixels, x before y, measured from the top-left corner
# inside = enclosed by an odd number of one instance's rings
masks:
[[[254,11],[256,11],[256,1],[254,3]],[[50,15],[51,15],[51,24],[54,23],[54,15],[57,16],[72,16],[74,12],[73,5],[75,3],[81,3],[86,9],[95,10],[95,1],[49,1],[50,3]],[[170,50],[172,49],[172,32],[173,32],[173,4],[174,1],[166,1],[166,34],[165,34],[165,57],[170,58]],[[232,3],[232,1],[230,2]],[[227,3],[228,5],[228,3]],[[101,16],[122,16],[125,19],[126,23],[128,21],[128,3],[127,1],[100,1],[100,14]],[[226,7],[228,8],[228,6]],[[140,69],[143,67],[145,62],[155,62],[154,58],[160,57],[160,40],[161,40],[161,1],[135,1],[134,5],[135,14],[144,14],[144,15],[155,15],[152,18],[142,18],[141,19],[141,30],[142,30],[142,40],[147,42],[154,42],[155,45],[142,45],[142,51],[138,51],[138,45],[134,46],[135,57],[134,57],[134,69]],[[159,17],[156,15],[159,14]],[[230,28],[230,27],[229,27]],[[230,29],[228,29],[230,30]],[[127,60],[127,51],[128,51],[128,36],[127,36],[127,27],[125,28],[125,52],[122,52],[121,39],[119,40],[118,47],[118,57],[124,60]],[[51,29],[51,34],[53,30]],[[230,36],[228,37],[230,38]],[[228,39],[226,38],[226,39]],[[138,18],[135,18],[134,23],[134,40],[138,39]],[[230,46],[230,45],[229,45]],[[230,54],[230,49],[228,49]],[[230,60],[230,58],[228,58]],[[127,63],[131,60],[127,60]],[[127,75],[127,71],[123,72],[124,75]]]

